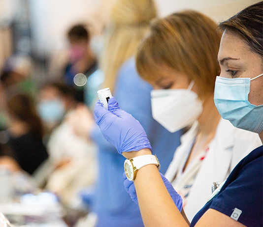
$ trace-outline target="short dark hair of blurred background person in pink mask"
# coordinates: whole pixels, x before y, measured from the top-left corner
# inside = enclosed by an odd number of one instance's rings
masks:
[[[79,24],[79,25],[74,25],[72,28],[68,30],[67,37],[70,42],[77,42],[80,40],[89,41],[90,33],[85,28],[84,25]]]

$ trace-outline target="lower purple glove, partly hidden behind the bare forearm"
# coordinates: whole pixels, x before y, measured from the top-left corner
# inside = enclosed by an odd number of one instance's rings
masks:
[[[162,177],[162,180],[164,181],[164,185],[167,189],[167,191],[170,194],[170,197],[172,198],[173,202],[175,203],[176,207],[178,210],[181,212],[182,207],[183,207],[183,199],[182,197],[175,191],[173,188],[172,184],[167,180],[167,178],[160,172],[160,175]],[[123,174],[123,179],[124,179],[124,187],[126,192],[128,192],[132,198],[132,200],[138,204],[138,199],[136,195],[136,190],[133,181],[130,181],[127,179],[126,174]]]

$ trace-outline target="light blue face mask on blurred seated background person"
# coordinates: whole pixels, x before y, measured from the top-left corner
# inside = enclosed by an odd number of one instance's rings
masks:
[[[58,123],[65,114],[64,104],[60,99],[41,101],[37,111],[46,123]]]

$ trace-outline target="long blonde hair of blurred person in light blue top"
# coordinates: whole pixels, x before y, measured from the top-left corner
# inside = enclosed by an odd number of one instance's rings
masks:
[[[153,0],[116,0],[106,28],[101,69],[104,86],[114,90],[115,78],[122,63],[135,54],[149,22],[157,15]]]

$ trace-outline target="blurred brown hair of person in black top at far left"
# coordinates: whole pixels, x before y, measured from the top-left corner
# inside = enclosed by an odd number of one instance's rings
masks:
[[[43,138],[43,125],[33,99],[27,94],[15,94],[7,100],[7,110],[17,119],[28,124],[30,130]]]

